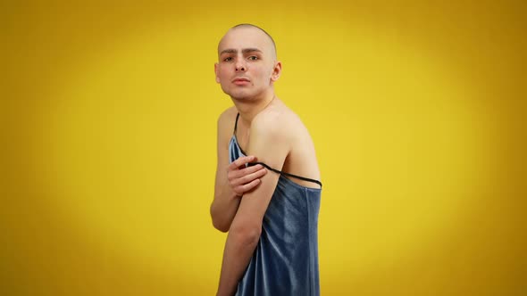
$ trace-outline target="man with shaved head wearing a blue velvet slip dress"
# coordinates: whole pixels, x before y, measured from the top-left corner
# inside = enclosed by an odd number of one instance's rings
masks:
[[[218,119],[211,217],[229,234],[217,295],[318,295],[320,172],[307,129],[274,93],[274,41],[241,24],[218,57],[216,82],[234,106]]]

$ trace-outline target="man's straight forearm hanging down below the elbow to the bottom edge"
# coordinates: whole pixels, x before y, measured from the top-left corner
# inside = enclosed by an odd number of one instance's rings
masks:
[[[260,238],[252,234],[230,231],[223,251],[222,273],[217,296],[231,296],[236,293],[238,282],[249,264]]]

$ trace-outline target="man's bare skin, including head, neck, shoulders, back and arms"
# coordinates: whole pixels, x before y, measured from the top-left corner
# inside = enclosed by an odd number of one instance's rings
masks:
[[[320,179],[320,173],[311,136],[274,93],[281,63],[272,40],[255,27],[230,29],[218,45],[218,56],[216,82],[230,95],[234,106],[218,119],[218,167],[211,217],[216,228],[229,231],[217,295],[233,295],[255,251],[263,216],[280,177],[259,166],[245,168],[244,164],[255,161],[252,155],[257,155],[258,161],[291,174]],[[237,113],[238,144],[251,156],[229,164],[228,146]]]

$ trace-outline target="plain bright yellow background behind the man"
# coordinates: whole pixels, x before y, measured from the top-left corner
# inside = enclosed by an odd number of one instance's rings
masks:
[[[213,62],[240,22],[314,138],[322,295],[527,294],[522,1],[0,11],[0,294],[213,295]]]

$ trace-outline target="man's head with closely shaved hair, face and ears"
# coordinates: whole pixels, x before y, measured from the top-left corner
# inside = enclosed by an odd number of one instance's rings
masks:
[[[230,29],[218,46],[218,56],[216,82],[234,99],[264,97],[280,77],[281,64],[276,62],[272,41],[260,29]]]

